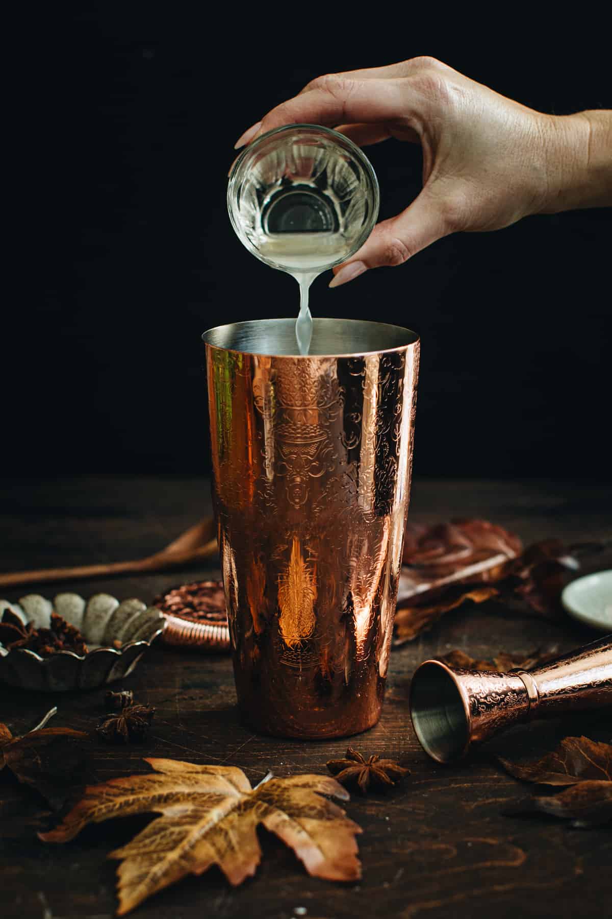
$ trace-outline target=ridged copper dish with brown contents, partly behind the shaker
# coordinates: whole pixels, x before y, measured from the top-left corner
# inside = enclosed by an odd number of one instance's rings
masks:
[[[221,581],[196,581],[172,587],[154,605],[166,618],[162,640],[174,647],[228,652],[229,630]]]

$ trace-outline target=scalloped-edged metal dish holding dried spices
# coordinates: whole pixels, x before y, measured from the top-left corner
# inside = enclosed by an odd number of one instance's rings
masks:
[[[11,609],[26,625],[49,628],[51,611],[79,629],[91,649],[86,654],[59,651],[42,657],[26,648],[7,651],[0,644],[0,680],[21,689],[65,692],[95,689],[128,676],[165,627],[157,607],[131,598],[119,602],[109,594],[85,600],[79,594],[58,594],[48,600],[39,594],[23,596],[18,603],[0,600],[0,619]],[[109,647],[121,641],[120,648]]]

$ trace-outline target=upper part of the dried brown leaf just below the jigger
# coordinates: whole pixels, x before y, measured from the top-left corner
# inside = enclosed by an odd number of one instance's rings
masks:
[[[566,737],[535,763],[521,766],[501,757],[499,762],[511,776],[540,785],[573,785],[585,779],[612,783],[612,746],[588,737]]]

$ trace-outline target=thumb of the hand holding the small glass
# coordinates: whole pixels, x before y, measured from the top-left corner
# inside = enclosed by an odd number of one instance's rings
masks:
[[[368,268],[403,265],[408,258],[450,232],[440,201],[424,188],[409,208],[376,224],[351,260],[333,269],[334,278],[329,287],[339,287]]]

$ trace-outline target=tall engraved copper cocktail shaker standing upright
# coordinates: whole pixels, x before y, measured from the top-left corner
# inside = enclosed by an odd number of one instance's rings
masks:
[[[213,496],[243,720],[342,737],[380,717],[412,467],[418,337],[295,320],[203,335]]]

